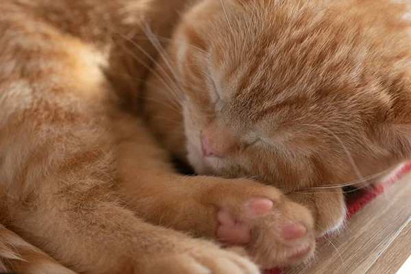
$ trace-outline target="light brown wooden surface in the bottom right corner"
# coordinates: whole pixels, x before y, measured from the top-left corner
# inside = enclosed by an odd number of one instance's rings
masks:
[[[397,273],[411,256],[411,174],[354,214],[316,252],[312,263],[284,274]]]

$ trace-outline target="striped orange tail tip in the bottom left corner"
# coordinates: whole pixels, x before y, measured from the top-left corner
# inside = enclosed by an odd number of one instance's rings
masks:
[[[0,224],[0,273],[76,274]]]

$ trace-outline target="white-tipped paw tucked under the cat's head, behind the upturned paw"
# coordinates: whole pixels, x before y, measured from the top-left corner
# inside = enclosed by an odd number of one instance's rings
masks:
[[[347,210],[343,188],[322,188],[290,192],[287,194],[287,197],[310,209],[314,216],[316,237],[335,232],[343,226]]]

